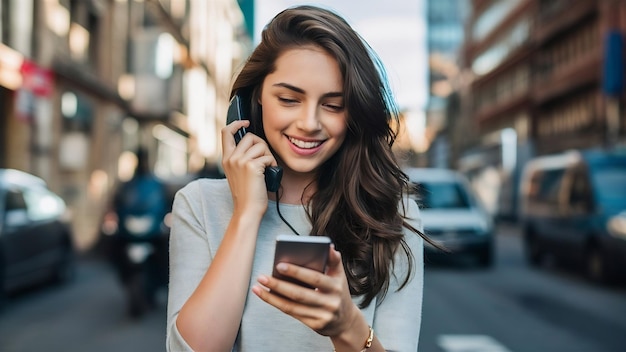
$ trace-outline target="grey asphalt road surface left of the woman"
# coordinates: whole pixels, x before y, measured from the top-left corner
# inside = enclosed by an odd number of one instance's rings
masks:
[[[130,319],[112,270],[88,257],[73,282],[34,288],[9,300],[0,312],[0,351],[164,351],[165,301],[163,293],[156,310]]]

